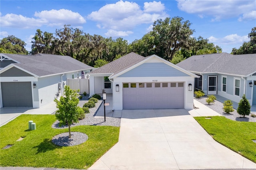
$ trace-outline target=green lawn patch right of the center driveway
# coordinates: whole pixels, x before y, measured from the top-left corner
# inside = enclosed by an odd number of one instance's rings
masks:
[[[256,163],[256,123],[232,121],[225,117],[195,117],[196,121],[220,144]]]

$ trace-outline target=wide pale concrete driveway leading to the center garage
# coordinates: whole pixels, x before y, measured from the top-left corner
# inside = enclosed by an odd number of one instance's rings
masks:
[[[256,169],[185,109],[123,110],[119,142],[90,170]]]

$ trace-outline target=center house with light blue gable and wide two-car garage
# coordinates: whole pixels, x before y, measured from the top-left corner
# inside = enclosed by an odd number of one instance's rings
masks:
[[[89,75],[90,95],[102,94],[102,90],[112,93],[113,110],[193,109],[192,88],[199,77],[157,55],[143,57],[133,52]]]

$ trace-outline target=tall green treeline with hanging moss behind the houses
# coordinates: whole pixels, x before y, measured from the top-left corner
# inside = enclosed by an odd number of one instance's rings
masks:
[[[159,19],[153,23],[152,31],[130,44],[123,38],[112,39],[112,37],[104,38],[96,34],[86,34],[70,25],[64,25],[63,28],[56,29],[54,33],[43,32],[38,29],[32,38],[31,54],[68,55],[83,63],[98,67],[130,52],[138,53],[144,57],[156,54],[168,61],[177,63],[192,55],[222,51],[218,45],[209,43],[208,39],[201,36],[192,37],[195,30],[192,30],[190,26],[190,21],[178,16],[164,20]],[[0,51],[21,53],[20,51],[23,50],[26,43],[13,37],[8,36],[8,38],[1,40]],[[252,34],[251,37],[255,36]],[[12,41],[8,43],[8,40]],[[17,50],[12,51],[11,49],[16,43],[22,49],[16,47]]]

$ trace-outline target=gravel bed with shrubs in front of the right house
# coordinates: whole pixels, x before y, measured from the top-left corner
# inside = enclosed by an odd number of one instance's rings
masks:
[[[206,99],[207,97],[201,97],[200,99],[198,98],[194,98],[197,101],[199,101],[200,103],[206,105],[207,107],[211,108],[212,110],[216,111],[217,113],[219,113],[220,115],[223,115],[224,117],[234,120],[234,121],[242,121],[242,122],[256,122],[256,117],[251,117],[250,115],[246,116],[246,117],[242,117],[241,115],[239,115],[236,111],[236,109],[234,109],[234,112],[231,113],[225,113],[223,111],[223,103],[220,101],[214,101],[214,103],[208,105],[208,103],[206,103]]]

